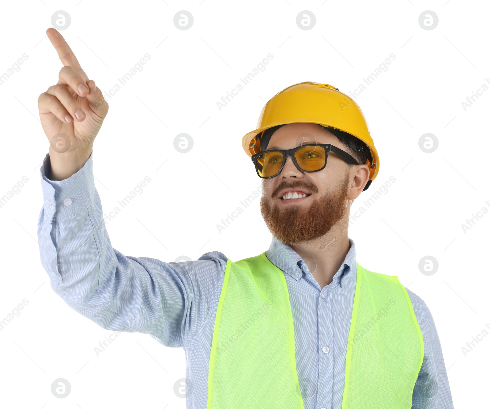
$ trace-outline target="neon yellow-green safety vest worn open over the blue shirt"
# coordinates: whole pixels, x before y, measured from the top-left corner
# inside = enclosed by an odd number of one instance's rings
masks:
[[[357,264],[342,409],[410,409],[422,333],[397,276]],[[304,409],[284,273],[266,256],[227,260],[209,359],[207,409]]]

